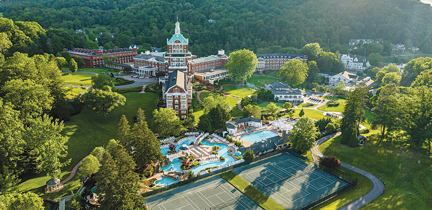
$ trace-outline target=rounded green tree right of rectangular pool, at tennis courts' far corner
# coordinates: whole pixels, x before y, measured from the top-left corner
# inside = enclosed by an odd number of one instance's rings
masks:
[[[297,120],[291,130],[291,147],[300,153],[306,153],[315,145],[315,140],[319,137],[319,129],[316,128],[313,119],[303,116]]]

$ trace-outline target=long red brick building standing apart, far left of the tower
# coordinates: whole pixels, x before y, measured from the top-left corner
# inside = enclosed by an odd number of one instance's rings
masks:
[[[103,56],[108,55],[109,57],[117,57],[116,63],[129,63],[134,61],[134,56],[137,55],[137,49],[120,48],[110,50],[89,50],[82,48],[73,48],[72,50],[64,49],[70,53],[72,58],[75,56],[81,57],[84,60],[85,67],[87,68],[99,68],[104,67]]]

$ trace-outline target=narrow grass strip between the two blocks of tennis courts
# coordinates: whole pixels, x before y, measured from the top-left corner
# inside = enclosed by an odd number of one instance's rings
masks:
[[[255,201],[264,209],[285,209],[269,196],[252,186],[249,182],[238,176],[232,171],[221,174],[222,178],[230,182],[234,187],[243,192],[246,196]]]

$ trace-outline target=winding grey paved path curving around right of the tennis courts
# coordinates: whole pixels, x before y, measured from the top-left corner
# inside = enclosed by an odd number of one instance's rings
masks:
[[[329,136],[325,136],[322,137],[320,139],[318,139],[318,141],[316,141],[316,145],[311,149],[312,152],[312,157],[315,160],[315,163],[318,161],[317,157],[326,157],[325,155],[323,155],[319,150],[318,150],[318,146],[324,142],[326,142],[327,140],[339,136],[341,135],[341,132],[338,132],[336,134],[332,134]],[[342,206],[339,208],[339,210],[354,210],[354,209],[359,209],[362,206],[368,204],[370,201],[374,200],[375,198],[377,198],[378,196],[380,196],[383,192],[384,192],[384,184],[381,182],[381,180],[379,180],[376,176],[374,176],[373,174],[364,171],[360,168],[356,168],[352,165],[348,165],[346,163],[341,162],[341,166],[348,168],[352,171],[355,171],[357,173],[360,173],[364,176],[366,176],[368,179],[370,179],[373,183],[373,187],[372,189],[367,192],[366,194],[364,194],[363,196],[357,198],[356,200],[352,201],[351,203],[346,204],[345,206]]]

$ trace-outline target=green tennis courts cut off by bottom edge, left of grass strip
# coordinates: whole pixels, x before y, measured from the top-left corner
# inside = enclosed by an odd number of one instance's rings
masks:
[[[213,176],[146,199],[151,210],[262,209],[221,176]]]

